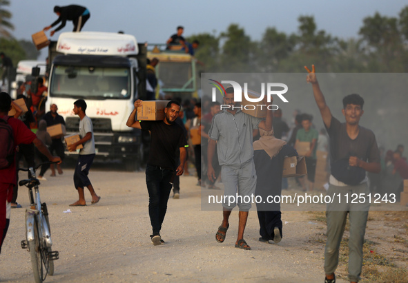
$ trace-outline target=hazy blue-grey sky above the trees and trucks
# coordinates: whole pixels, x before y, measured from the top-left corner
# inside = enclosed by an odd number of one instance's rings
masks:
[[[123,30],[136,36],[137,41],[164,43],[175,32],[177,25],[184,25],[184,35],[202,32],[220,34],[230,23],[238,23],[253,40],[262,38],[267,27],[286,33],[296,32],[300,15],[313,15],[318,29],[344,39],[357,37],[362,19],[375,12],[398,17],[408,5],[406,0],[10,0],[8,10],[16,39],[31,39],[31,34],[42,30],[57,19],[52,12],[55,5],[79,4],[90,10],[90,19],[84,31],[117,32]],[[72,22],[60,32],[72,31]],[[49,36],[49,31],[47,33]],[[45,59],[45,52],[41,59]]]

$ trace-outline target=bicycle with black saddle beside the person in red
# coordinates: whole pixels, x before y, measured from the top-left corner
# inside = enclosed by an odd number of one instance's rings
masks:
[[[19,168],[21,171],[30,172],[31,178],[19,181],[20,186],[28,187],[30,208],[26,209],[26,240],[21,241],[21,248],[30,251],[31,266],[35,282],[46,280],[47,275],[54,275],[54,260],[59,259],[58,251],[52,251],[51,229],[48,220],[48,210],[45,202],[41,203],[39,196],[40,182],[35,171],[41,165],[54,163],[41,163],[28,169]],[[32,191],[34,188],[34,194]]]

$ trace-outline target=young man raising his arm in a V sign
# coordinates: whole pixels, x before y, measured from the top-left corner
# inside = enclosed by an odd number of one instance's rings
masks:
[[[343,98],[342,114],[346,123],[331,115],[324,100],[313,65],[307,83],[311,83],[316,104],[320,109],[324,126],[330,137],[331,176],[327,196],[336,196],[327,204],[327,242],[324,250],[324,282],[336,282],[334,271],[338,266],[338,254],[344,227],[349,214],[349,280],[358,282],[362,268],[362,244],[369,213],[369,187],[365,172],[380,173],[380,151],[376,136],[371,130],[358,125],[364,100],[358,94]],[[360,196],[352,203],[347,196]],[[341,196],[341,198],[340,198]],[[340,198],[340,201],[338,200]]]

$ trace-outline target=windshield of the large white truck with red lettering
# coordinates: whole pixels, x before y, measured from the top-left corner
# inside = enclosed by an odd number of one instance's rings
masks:
[[[127,68],[55,65],[49,93],[59,97],[127,99],[130,98],[130,72]]]

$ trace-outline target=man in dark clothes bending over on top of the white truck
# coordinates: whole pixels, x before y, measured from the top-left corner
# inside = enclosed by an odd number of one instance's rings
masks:
[[[55,30],[51,30],[50,36],[53,36],[55,32],[64,28],[67,20],[72,21],[72,23],[74,24],[74,30],[72,30],[72,32],[80,32],[84,27],[86,21],[88,21],[88,19],[90,18],[89,10],[78,5],[70,5],[64,7],[55,6],[54,12],[59,16],[59,18],[54,23],[51,23],[51,25],[48,25],[48,27],[43,28],[43,30],[49,30],[60,22],[61,25],[59,25],[59,27]]]

